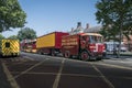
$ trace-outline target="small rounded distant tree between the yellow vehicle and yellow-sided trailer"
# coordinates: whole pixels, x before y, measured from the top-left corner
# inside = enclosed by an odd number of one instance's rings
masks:
[[[36,32],[30,28],[23,28],[18,33],[18,38],[22,40],[34,40],[36,38]]]

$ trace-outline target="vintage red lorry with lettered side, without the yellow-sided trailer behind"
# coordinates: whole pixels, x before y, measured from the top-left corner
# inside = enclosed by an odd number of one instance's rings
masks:
[[[62,37],[62,53],[65,57],[78,56],[82,61],[102,58],[105,44],[98,33],[77,33]]]

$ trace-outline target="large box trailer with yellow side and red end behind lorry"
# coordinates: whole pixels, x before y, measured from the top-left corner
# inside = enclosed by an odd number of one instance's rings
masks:
[[[53,32],[36,38],[36,52],[40,54],[56,55],[61,53],[62,36],[68,35],[64,32]]]

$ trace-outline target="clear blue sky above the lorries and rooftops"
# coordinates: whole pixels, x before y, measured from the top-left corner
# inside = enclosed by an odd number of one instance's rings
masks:
[[[37,36],[59,31],[69,32],[77,26],[77,22],[86,28],[98,25],[96,21],[96,3],[98,0],[19,0],[26,13],[25,26],[33,29]],[[20,29],[3,32],[9,37],[16,35]]]

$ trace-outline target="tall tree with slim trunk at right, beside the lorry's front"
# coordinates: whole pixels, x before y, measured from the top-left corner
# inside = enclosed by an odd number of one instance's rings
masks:
[[[132,0],[100,0],[96,4],[99,23],[109,29],[109,34],[120,36],[118,56],[120,56],[122,35],[132,34]]]

